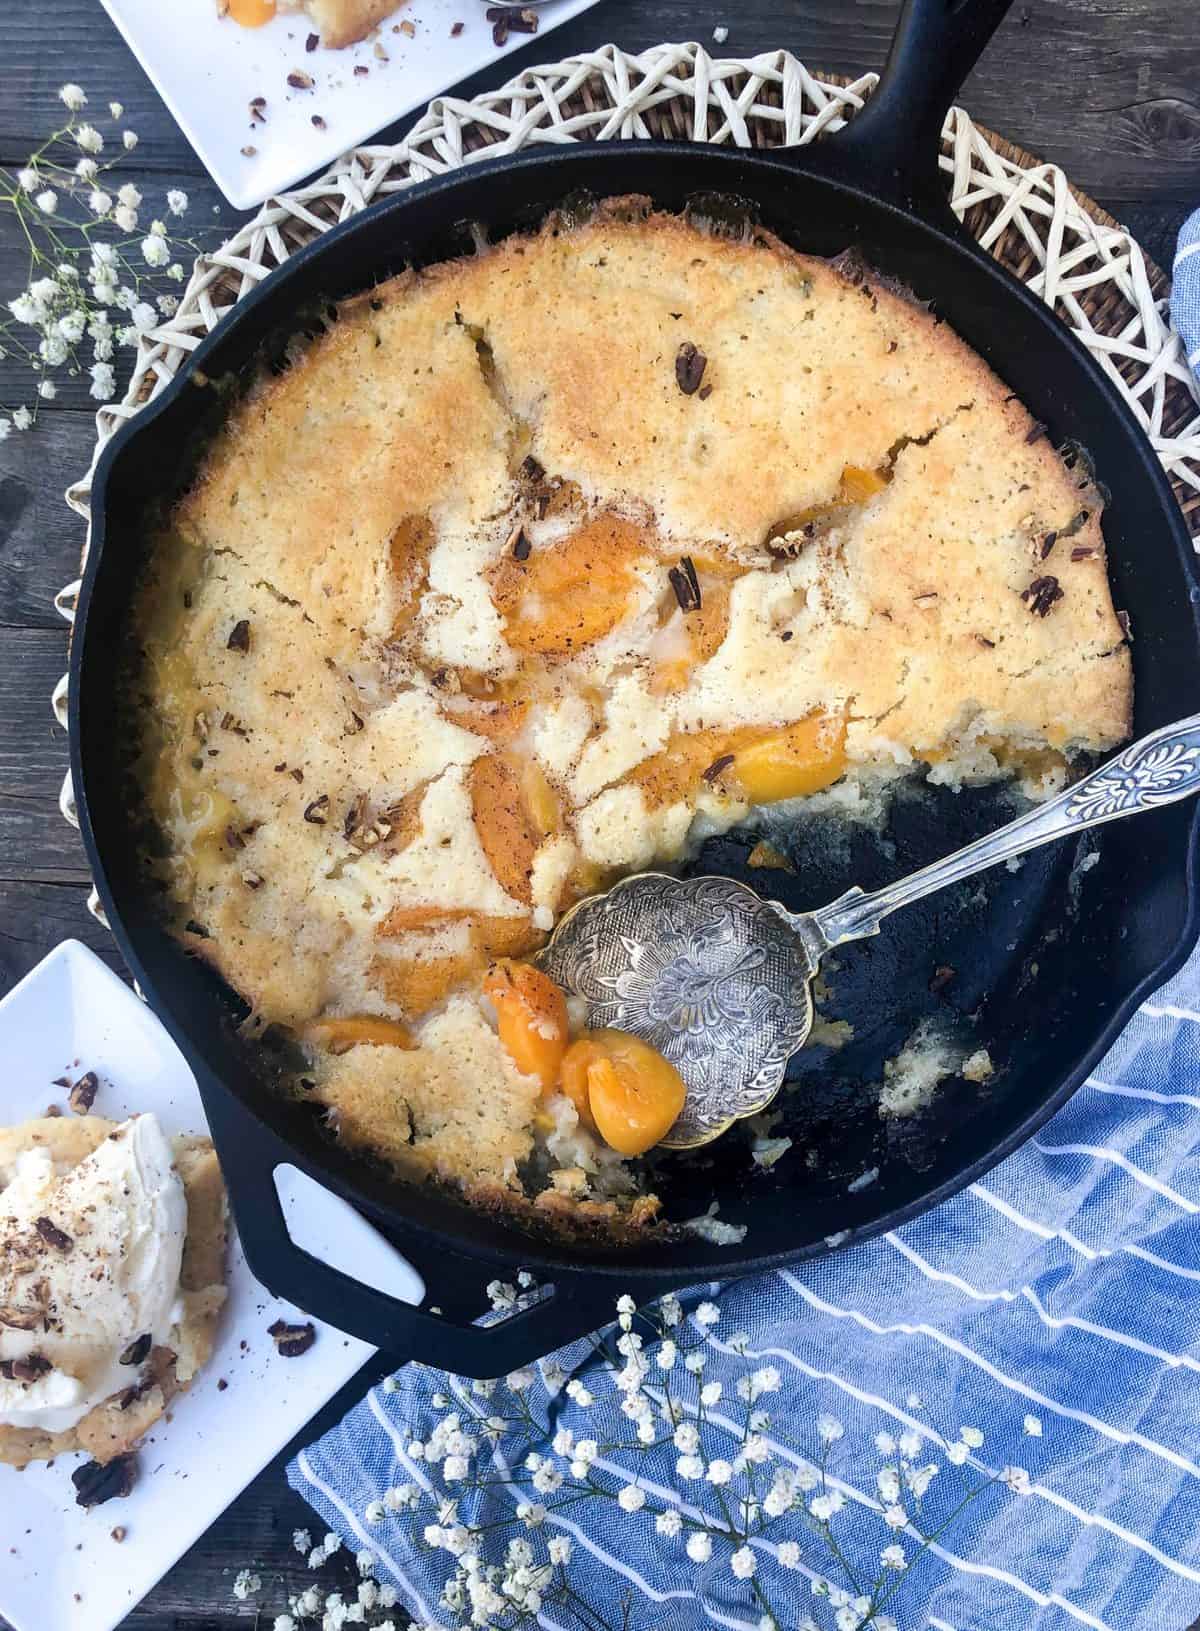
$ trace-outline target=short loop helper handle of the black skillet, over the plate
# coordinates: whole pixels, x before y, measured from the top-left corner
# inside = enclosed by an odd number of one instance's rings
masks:
[[[292,1240],[274,1182],[276,1166],[298,1165],[295,1151],[202,1065],[197,1068],[194,1059],[191,1063],[201,1083],[241,1248],[251,1272],[276,1297],[370,1342],[393,1355],[398,1365],[417,1360],[478,1378],[507,1375],[613,1318],[607,1279],[589,1282],[582,1275],[566,1275],[554,1282],[553,1295],[496,1324],[457,1324],[364,1285],[311,1256]],[[422,1275],[432,1303],[439,1302],[439,1284],[447,1285],[463,1275],[478,1275],[483,1300],[488,1275],[483,1262],[430,1249],[427,1243],[409,1248],[404,1241],[396,1251],[411,1259]]]

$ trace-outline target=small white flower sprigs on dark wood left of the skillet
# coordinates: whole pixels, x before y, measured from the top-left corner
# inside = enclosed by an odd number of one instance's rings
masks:
[[[178,251],[191,253],[194,245],[174,240],[161,220],[135,238],[142,192],[132,183],[114,188],[109,179],[117,160],[98,157],[103,134],[77,117],[88,103],[83,88],[64,85],[59,99],[67,124],[18,170],[15,186],[0,175],[0,209],[18,215],[31,246],[29,282],[0,312],[0,356],[28,362],[41,401],[57,396],[51,378],[57,369],[86,375],[90,395],[109,401],[117,390],[116,349],[135,347],[178,310],[178,295],[150,287],[152,274],[181,284]],[[122,111],[121,103],[109,103],[114,121]],[[124,130],[121,145],[132,150],[135,132]],[[186,209],[188,194],[173,188],[166,212],[174,217]],[[36,409],[24,404],[0,409],[0,440],[28,431],[34,419]]]

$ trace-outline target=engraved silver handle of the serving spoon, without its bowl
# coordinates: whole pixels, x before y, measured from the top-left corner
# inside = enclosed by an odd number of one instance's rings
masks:
[[[936,889],[944,889],[946,884],[973,877],[998,861],[1024,855],[1026,850],[1035,850],[1053,838],[1099,827],[1102,822],[1138,816],[1159,804],[1174,804],[1177,799],[1190,798],[1192,793],[1200,793],[1200,714],[1143,736],[1140,742],[1122,749],[1107,765],[1101,765],[1058,798],[1039,804],[1008,827],[977,838],[946,860],[897,879],[887,889],[866,894],[854,887],[818,912],[804,917],[784,913],[784,917],[801,933],[804,933],[802,925],[814,925],[825,941],[822,949],[840,946],[848,939],[877,935],[879,925],[892,912],[931,895]]]

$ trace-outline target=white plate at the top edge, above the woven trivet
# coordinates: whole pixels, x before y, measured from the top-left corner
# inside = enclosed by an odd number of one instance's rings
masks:
[[[595,0],[556,0],[540,13],[535,38],[590,5]],[[305,11],[279,13],[266,28],[248,29],[218,18],[215,0],[104,0],[104,10],[238,209],[321,170],[448,85],[530,42],[528,34],[512,34],[497,47],[479,0],[408,0],[380,24],[377,39],[344,51],[305,51],[313,31]],[[412,24],[412,39],[399,33],[401,23]],[[463,24],[458,36],[450,33],[455,23]],[[355,67],[367,73],[355,75]],[[289,86],[295,72],[311,75],[313,88]],[[249,116],[256,96],[267,103],[261,124]],[[254,153],[245,155],[243,147]]]

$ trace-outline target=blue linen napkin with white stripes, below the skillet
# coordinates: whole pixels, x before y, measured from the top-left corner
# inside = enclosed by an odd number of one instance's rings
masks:
[[[722,1383],[701,1453],[735,1458],[732,1429],[745,1421],[737,1378],[747,1364],[770,1367],[760,1406],[770,1411],[765,1437],[776,1466],[796,1470],[815,1456],[822,1416],[845,1427],[830,1445],[828,1489],[845,1497],[832,1533],[859,1582],[874,1579],[885,1546],[915,1551],[884,1517],[877,1434],[916,1435],[920,1450],[905,1440],[910,1458],[939,1468],[921,1509],[924,1533],[957,1505],[964,1476],[982,1483],[1006,1466],[1027,1471],[1027,1494],[993,1484],[897,1576],[885,1613],[902,1631],[1184,1631],[1200,1613],[1198,1212],[1200,954],[1145,1003],[1070,1104],[982,1182],[822,1262],[685,1293],[680,1350],[703,1344],[699,1380]],[[716,1324],[706,1323],[711,1308],[696,1316],[709,1298]],[[745,1360],[735,1333],[747,1336]],[[651,1395],[655,1377],[652,1365]],[[580,1404],[566,1378],[582,1380],[593,1403],[585,1395]],[[693,1385],[682,1396],[695,1399],[698,1378],[680,1380]],[[737,1471],[726,1489],[680,1478],[670,1442],[602,1448],[592,1465],[611,1492],[639,1481],[642,1510],[611,1499],[554,1510],[546,1496],[545,1523],[527,1530],[517,1504],[540,1497],[514,1486],[514,1461],[530,1448],[553,1455],[561,1429],[602,1447],[631,1443],[633,1422],[620,1414],[613,1372],[592,1342],[543,1360],[525,1398],[549,1432],[484,1448],[474,1473],[489,1487],[465,1491],[458,1505],[461,1523],[501,1525],[488,1532],[486,1556],[527,1536],[545,1561],[551,1538],[569,1538],[567,1577],[610,1628],[623,1624],[628,1593],[629,1631],[758,1631],[755,1585],[788,1631],[807,1628],[809,1616],[822,1631],[859,1624],[846,1576],[794,1512],[753,1545],[753,1582],[735,1576],[722,1541],[698,1562],[685,1551],[686,1528],[662,1535],[655,1514],[675,1507],[685,1518],[719,1520],[721,1497],[743,1487]],[[439,1607],[455,1558],[422,1538],[435,1517],[429,1504],[424,1515],[380,1515],[378,1505],[368,1515],[368,1505],[398,1484],[429,1487],[429,1461],[406,1447],[427,1440],[447,1411],[494,1408],[470,1383],[409,1365],[289,1468],[293,1487],[351,1548],[375,1553],[380,1577],[399,1589],[419,1624],[466,1621],[470,1608],[460,1616]],[[982,1442],[968,1432],[964,1445],[964,1425]],[[955,1439],[964,1465],[946,1455]],[[558,1466],[567,1471],[567,1461],[559,1456]],[[771,1465],[763,1476],[770,1487]],[[1019,1473],[1009,1478],[1022,1484]],[[822,1580],[832,1597],[814,1593]],[[580,1624],[549,1598],[538,1623],[549,1631]]]

